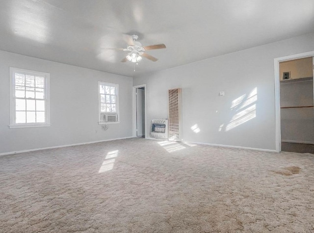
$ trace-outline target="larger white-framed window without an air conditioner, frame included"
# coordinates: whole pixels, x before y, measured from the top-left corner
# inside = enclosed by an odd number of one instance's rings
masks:
[[[10,128],[50,126],[49,77],[10,67]]]

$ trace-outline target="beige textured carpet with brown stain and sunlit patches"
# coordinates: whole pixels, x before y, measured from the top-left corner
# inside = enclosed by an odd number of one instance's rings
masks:
[[[0,232],[314,232],[314,155],[142,138],[0,156]]]

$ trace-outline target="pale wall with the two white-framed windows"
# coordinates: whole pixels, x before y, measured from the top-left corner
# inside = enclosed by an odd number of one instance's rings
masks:
[[[9,67],[50,73],[51,127],[9,129]],[[98,125],[98,81],[119,84],[120,124]],[[0,51],[0,154],[132,136],[132,78]],[[96,132],[97,131],[97,132]]]

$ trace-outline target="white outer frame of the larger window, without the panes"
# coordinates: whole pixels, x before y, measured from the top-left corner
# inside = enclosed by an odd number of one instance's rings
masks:
[[[44,123],[15,123],[15,74],[22,73],[27,75],[41,76],[45,78],[44,100],[45,100],[45,122]],[[25,98],[27,100],[27,98]],[[10,67],[10,129],[15,128],[33,128],[33,127],[50,127],[50,74]]]

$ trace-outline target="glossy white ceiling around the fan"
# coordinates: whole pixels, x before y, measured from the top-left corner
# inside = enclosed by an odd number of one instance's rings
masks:
[[[0,50],[136,76],[314,32],[314,0],[0,0]],[[123,34],[148,51],[120,62]]]

